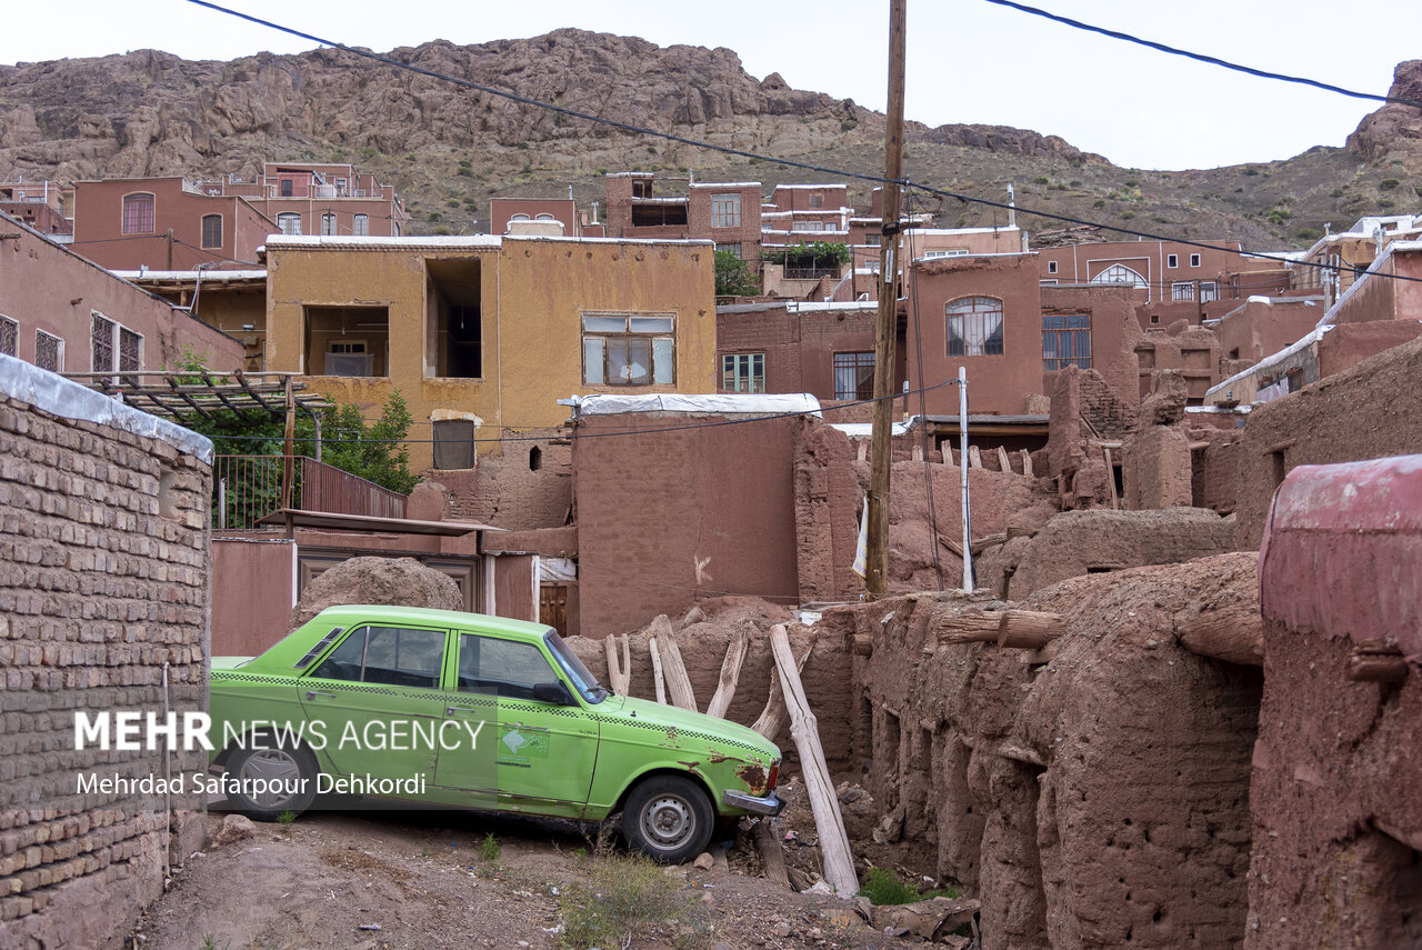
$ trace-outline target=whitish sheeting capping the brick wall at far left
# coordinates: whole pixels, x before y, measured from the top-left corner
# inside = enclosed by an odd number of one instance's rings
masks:
[[[108,425],[144,438],[156,438],[198,461],[212,464],[212,439],[181,425],[125,405],[63,375],[0,354],[0,393],[65,420]]]

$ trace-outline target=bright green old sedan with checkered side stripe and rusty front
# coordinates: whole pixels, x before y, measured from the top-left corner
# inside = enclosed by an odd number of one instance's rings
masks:
[[[775,815],[779,749],[727,720],[611,694],[550,627],[415,607],[323,610],[212,661],[213,788],[252,818],[356,794],[577,821],[621,815],[664,862],[720,819]]]

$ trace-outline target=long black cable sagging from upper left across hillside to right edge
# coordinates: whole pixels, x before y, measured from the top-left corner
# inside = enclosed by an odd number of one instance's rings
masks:
[[[993,0],[990,0],[990,1],[993,1]],[[495,87],[491,87],[491,85],[482,85],[479,82],[472,82],[469,80],[461,80],[458,77],[448,75],[448,74],[444,74],[444,73],[437,73],[434,70],[427,70],[424,67],[418,67],[418,65],[414,65],[411,63],[401,63],[400,60],[394,60],[394,58],[391,58],[388,55],[381,55],[378,53],[371,53],[370,50],[360,50],[360,48],[356,48],[356,47],[350,47],[350,46],[346,46],[344,43],[337,43],[334,40],[326,40],[326,38],[314,36],[311,33],[304,33],[304,31],[296,30],[293,27],[284,27],[284,26],[282,26],[279,23],[273,23],[270,20],[263,20],[263,18],[255,17],[255,16],[252,16],[249,13],[242,13],[239,10],[232,10],[230,7],[223,7],[223,6],[219,6],[216,3],[210,3],[209,0],[188,0],[188,3],[192,3],[192,4],[199,6],[199,7],[206,7],[209,10],[218,11],[218,13],[226,13],[228,16],[233,16],[233,17],[237,17],[240,20],[246,20],[249,23],[256,23],[259,26],[264,26],[264,27],[269,27],[272,30],[277,30],[280,33],[286,33],[289,36],[300,37],[303,40],[310,40],[311,43],[319,43],[321,46],[328,46],[331,48],[341,50],[343,53],[350,53],[353,55],[358,55],[358,57],[363,57],[363,58],[367,58],[367,60],[374,60],[375,63],[383,63],[383,64],[394,67],[397,70],[405,70],[405,71],[415,73],[418,75],[425,75],[428,78],[438,80],[438,81],[442,81],[442,82],[452,82],[454,85],[459,85],[462,88],[475,90],[478,92],[485,92],[488,95],[495,95],[495,97],[499,97],[499,98],[505,98],[505,100],[509,100],[509,101],[513,101],[513,102],[519,102],[522,105],[532,105],[535,108],[547,110],[550,112],[557,112],[560,115],[567,115],[567,117],[572,117],[572,118],[579,118],[579,119],[583,119],[586,122],[594,122],[594,124],[599,124],[599,125],[607,125],[610,128],[617,128],[617,129],[621,129],[621,131],[626,131],[626,132],[633,132],[633,134],[637,134],[637,135],[650,135],[653,138],[660,138],[660,139],[664,139],[664,141],[668,141],[668,142],[677,142],[680,145],[690,145],[693,148],[704,148],[707,151],[721,152],[724,155],[735,155],[735,156],[745,158],[745,159],[752,159],[754,158],[754,159],[761,161],[761,162],[772,162],[772,164],[782,165],[782,166],[786,166],[786,168],[799,168],[802,171],[819,172],[819,174],[823,174],[823,175],[830,175],[830,176],[838,176],[838,178],[853,178],[853,179],[859,179],[859,181],[873,182],[873,183],[877,183],[877,185],[900,185],[900,186],[903,186],[906,189],[909,189],[909,188],[917,188],[919,191],[921,191],[924,193],[936,195],[939,198],[953,198],[953,199],[960,201],[960,202],[973,203],[973,205],[983,205],[985,208],[995,208],[998,210],[1008,209],[1008,205],[1005,205],[1003,202],[994,202],[994,201],[990,201],[987,198],[973,198],[971,195],[963,195],[963,193],[958,193],[958,192],[950,192],[950,191],[946,191],[946,189],[931,188],[927,183],[919,183],[919,182],[914,182],[914,181],[907,179],[907,178],[894,181],[894,179],[884,178],[882,175],[870,175],[870,174],[865,174],[865,172],[852,172],[852,171],[839,169],[839,168],[828,168],[825,165],[813,165],[811,162],[798,162],[798,161],[791,159],[791,158],[776,158],[774,155],[765,155],[765,154],[759,154],[759,152],[748,152],[748,151],[739,149],[739,148],[731,148],[729,145],[717,145],[714,142],[702,142],[702,141],[698,141],[698,139],[685,138],[683,135],[673,135],[671,132],[658,132],[657,129],[644,128],[641,125],[631,125],[630,122],[620,122],[617,119],[604,118],[602,115],[592,115],[589,112],[580,112],[577,110],[570,110],[570,108],[567,108],[565,105],[556,105],[553,102],[543,102],[540,100],[535,100],[535,98],[530,98],[530,97],[526,97],[526,95],[519,95],[516,92],[509,92],[506,90],[499,90],[499,88],[495,88]],[[1187,239],[1180,239],[1180,238],[1165,238],[1162,235],[1155,235],[1155,233],[1150,233],[1150,232],[1133,230],[1130,228],[1121,228],[1118,225],[1106,225],[1106,223],[1102,223],[1102,222],[1086,220],[1086,219],[1082,219],[1082,218],[1071,218],[1068,215],[1058,215],[1058,213],[1054,213],[1054,212],[1038,210],[1038,209],[1034,209],[1034,208],[1017,206],[1015,209],[1020,213],[1025,213],[1025,215],[1037,215],[1039,218],[1048,218],[1048,219],[1052,219],[1052,220],[1062,220],[1062,222],[1068,222],[1068,223],[1072,223],[1072,225],[1089,225],[1092,228],[1099,228],[1102,230],[1111,230],[1111,232],[1115,232],[1115,233],[1119,233],[1119,235],[1129,235],[1132,238],[1146,238],[1146,239],[1150,239],[1150,240],[1169,240],[1169,242],[1179,243],[1179,245],[1186,245],[1186,246],[1190,246],[1190,247],[1203,247],[1206,250],[1224,250],[1224,252],[1230,252],[1230,253],[1243,253],[1243,252],[1239,252],[1239,250],[1234,250],[1234,249],[1230,249],[1230,247],[1220,247],[1217,245],[1209,245],[1209,243],[1199,242],[1199,240],[1187,240]],[[1311,260],[1294,260],[1293,257],[1284,257],[1284,256],[1278,256],[1278,255],[1268,255],[1268,253],[1261,253],[1261,252],[1250,252],[1250,256],[1261,259],[1261,260],[1280,260],[1280,262],[1284,262],[1284,263],[1291,263],[1291,265],[1304,266],[1304,267],[1317,267],[1320,270],[1335,270],[1335,267],[1332,267],[1331,265],[1327,265],[1327,263],[1311,262]],[[1396,274],[1396,273],[1386,273],[1386,274],[1385,273],[1378,273],[1375,276],[1388,277],[1391,280],[1408,280],[1408,282],[1422,283],[1422,277],[1408,277],[1405,274]]]

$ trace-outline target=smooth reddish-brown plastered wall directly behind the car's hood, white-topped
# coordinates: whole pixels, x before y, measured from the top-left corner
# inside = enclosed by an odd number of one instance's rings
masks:
[[[700,425],[720,420],[584,417],[573,441],[583,636],[626,633],[698,597],[798,602],[793,445],[803,422]],[[634,434],[685,425],[695,428]]]

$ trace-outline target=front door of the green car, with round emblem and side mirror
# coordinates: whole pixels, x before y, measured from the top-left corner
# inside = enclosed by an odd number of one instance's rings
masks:
[[[533,698],[540,683],[562,677],[536,643],[459,633],[458,677],[447,704],[464,730],[442,744],[435,785],[492,794],[498,808],[577,816],[597,764],[597,721],[569,691],[570,705]]]

